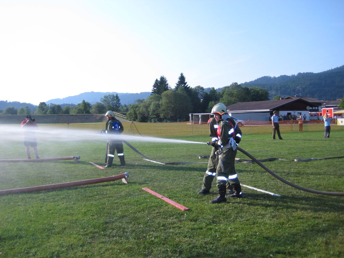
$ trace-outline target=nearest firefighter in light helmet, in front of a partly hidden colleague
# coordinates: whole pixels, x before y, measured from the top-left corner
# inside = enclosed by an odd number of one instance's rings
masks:
[[[238,175],[235,172],[235,156],[237,153],[237,146],[241,140],[241,130],[236,125],[233,118],[227,113],[227,108],[224,104],[216,104],[212,109],[215,120],[218,122],[217,137],[218,141],[212,143],[212,146],[217,146],[219,150],[219,162],[216,168],[216,183],[218,187],[218,197],[211,201],[211,203],[226,202],[226,183],[227,181],[233,186],[234,194],[228,197],[243,197]]]

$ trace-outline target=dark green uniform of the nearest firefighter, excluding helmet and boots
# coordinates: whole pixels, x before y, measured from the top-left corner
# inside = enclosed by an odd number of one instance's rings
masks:
[[[217,144],[221,149],[221,154],[216,168],[216,183],[220,195],[225,194],[227,182],[234,187],[238,194],[241,194],[240,182],[235,171],[235,156],[242,133],[233,118],[226,114],[222,115],[222,118],[225,120],[219,122]]]

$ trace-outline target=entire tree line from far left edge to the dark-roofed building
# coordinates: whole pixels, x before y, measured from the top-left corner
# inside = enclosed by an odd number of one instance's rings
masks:
[[[151,95],[146,99],[137,99],[135,104],[121,105],[118,94],[105,95],[100,102],[91,105],[83,100],[76,106],[46,104],[41,102],[31,112],[29,107],[7,107],[0,110],[3,115],[52,115],[52,114],[105,114],[112,110],[127,119],[138,122],[188,121],[190,113],[211,112],[219,102],[226,106],[238,102],[262,101],[269,99],[267,89],[246,87],[238,83],[216,90],[214,87],[205,90],[202,86],[190,87],[183,73],[178,77],[172,89],[165,76],[155,79]]]

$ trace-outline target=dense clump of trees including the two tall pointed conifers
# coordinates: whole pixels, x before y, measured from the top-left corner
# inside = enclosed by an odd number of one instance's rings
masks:
[[[262,101],[269,99],[269,92],[258,87],[243,87],[238,83],[217,91],[214,87],[206,91],[201,86],[191,88],[183,73],[180,74],[174,89],[166,77],[155,79],[152,94],[146,100],[129,106],[127,118],[133,121],[179,121],[189,120],[190,113],[211,112],[219,102],[232,105],[237,102]]]

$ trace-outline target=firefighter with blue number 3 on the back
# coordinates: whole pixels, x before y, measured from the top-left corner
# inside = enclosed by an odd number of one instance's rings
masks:
[[[106,112],[105,116],[107,117],[105,133],[108,133],[109,135],[120,135],[123,132],[124,128],[122,123],[116,119],[114,112],[109,110]],[[115,157],[115,150],[117,151],[117,156],[119,158],[121,166],[124,166],[126,164],[124,160],[123,143],[121,140],[116,139],[116,137],[112,136],[109,137],[109,139],[107,140],[105,156],[106,168],[111,168],[112,161]]]

